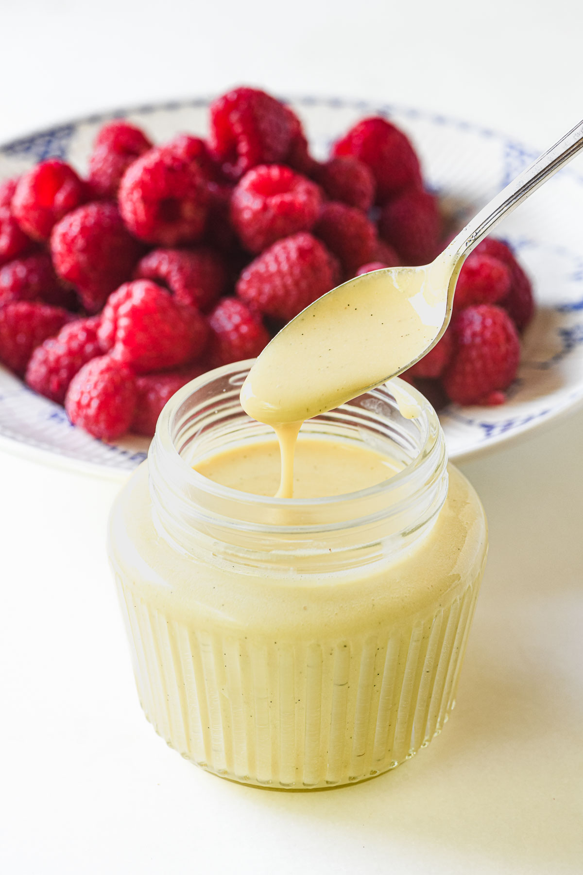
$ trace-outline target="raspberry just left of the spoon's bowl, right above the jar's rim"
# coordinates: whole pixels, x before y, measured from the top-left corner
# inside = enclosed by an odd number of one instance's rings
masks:
[[[254,359],[269,343],[260,316],[236,297],[224,297],[209,316],[212,367]]]

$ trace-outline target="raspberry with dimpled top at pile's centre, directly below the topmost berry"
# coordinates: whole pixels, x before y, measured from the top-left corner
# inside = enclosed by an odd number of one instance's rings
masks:
[[[281,165],[253,167],[231,199],[231,221],[243,245],[261,252],[281,237],[309,231],[320,209],[313,182]]]

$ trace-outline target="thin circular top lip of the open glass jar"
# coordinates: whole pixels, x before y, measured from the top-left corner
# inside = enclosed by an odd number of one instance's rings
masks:
[[[217,483],[214,480],[205,477],[204,474],[201,474],[196,470],[196,468],[189,465],[189,463],[186,461],[186,459],[183,458],[183,456],[181,456],[180,452],[177,449],[175,438],[173,437],[172,433],[177,412],[182,407],[184,402],[187,401],[187,399],[194,392],[198,391],[200,388],[203,388],[206,384],[217,380],[219,377],[232,372],[234,365],[236,365],[240,370],[243,370],[245,368],[252,367],[254,361],[255,359],[246,359],[243,361],[233,362],[228,365],[223,365],[222,367],[214,368],[211,371],[206,371],[205,374],[201,374],[194,380],[186,383],[182,388],[178,389],[175,395],[172,395],[170,400],[166,402],[163,407],[162,413],[160,414],[156,423],[155,441],[160,446],[160,449],[163,451],[164,456],[166,456],[170,464],[175,469],[177,469],[177,474],[182,474],[184,479],[191,480],[191,483],[193,485],[196,485],[198,488],[203,489],[206,493],[212,494],[213,497],[216,497],[219,500],[238,500],[240,502],[248,499],[252,500],[253,504],[261,505],[263,507],[288,507],[289,509],[300,509],[302,507],[330,507],[337,505],[343,501],[354,501],[362,499],[365,500],[367,498],[377,496],[381,493],[390,493],[392,491],[397,491],[399,490],[400,486],[402,486],[403,482],[406,479],[411,479],[421,466],[425,467],[425,463],[427,463],[427,456],[431,455],[431,450],[433,449],[434,444],[437,443],[437,440],[432,439],[432,430],[434,430],[432,429],[432,426],[437,424],[438,433],[441,430],[438,416],[435,413],[434,408],[427,401],[427,398],[422,395],[416,388],[414,388],[410,383],[399,379],[399,377],[393,377],[392,380],[386,381],[382,384],[381,387],[378,388],[389,388],[390,390],[392,382],[396,382],[399,388],[399,394],[406,395],[407,400],[413,401],[420,408],[420,416],[416,418],[420,421],[422,425],[422,432],[420,433],[420,446],[418,447],[414,458],[407,462],[406,465],[404,465],[398,472],[393,473],[391,477],[381,480],[379,483],[374,484],[373,486],[366,486],[364,487],[364,489],[358,489],[355,492],[340,493],[337,495],[325,495],[309,499],[277,498],[270,495],[246,493],[242,490],[234,489],[232,486],[224,486],[223,484]],[[374,389],[370,391],[374,391]],[[152,442],[152,446],[153,444],[154,441]],[[152,447],[150,446],[150,452],[151,451]],[[180,469],[182,470],[180,471]]]

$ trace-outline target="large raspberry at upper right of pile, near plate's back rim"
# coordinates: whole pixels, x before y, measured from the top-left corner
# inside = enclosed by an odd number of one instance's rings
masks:
[[[402,192],[408,186],[419,186],[419,158],[402,130],[384,118],[364,118],[337,140],[334,155],[352,155],[370,167],[377,183],[377,201]]]

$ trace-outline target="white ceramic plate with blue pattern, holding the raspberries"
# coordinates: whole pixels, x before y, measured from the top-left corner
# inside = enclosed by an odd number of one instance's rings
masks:
[[[39,131],[0,147],[0,179],[49,156],[66,158],[85,172],[96,131],[114,116],[141,125],[155,141],[181,130],[204,135],[208,103],[199,98],[117,110]],[[392,118],[419,150],[428,186],[460,224],[538,154],[495,131],[416,109],[335,98],[290,103],[321,158],[357,119]],[[524,335],[508,402],[494,408],[450,404],[441,411],[450,458],[466,460],[494,449],[583,402],[582,215],[583,177],[567,168],[501,226],[498,234],[510,241],[533,278],[537,314]],[[120,476],[145,458],[149,440],[95,440],[72,426],[61,407],[0,368],[0,443],[53,464]]]

